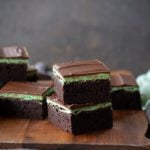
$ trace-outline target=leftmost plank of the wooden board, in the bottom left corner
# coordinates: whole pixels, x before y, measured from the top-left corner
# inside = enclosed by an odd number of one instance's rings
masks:
[[[0,118],[0,149],[22,147],[27,119]]]

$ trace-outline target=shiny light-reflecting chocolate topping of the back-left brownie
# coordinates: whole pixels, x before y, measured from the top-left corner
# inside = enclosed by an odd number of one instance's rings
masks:
[[[0,58],[29,58],[26,47],[9,46],[0,48]]]

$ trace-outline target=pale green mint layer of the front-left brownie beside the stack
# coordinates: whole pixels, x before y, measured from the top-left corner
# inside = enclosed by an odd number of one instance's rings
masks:
[[[41,101],[43,100],[46,96],[51,95],[51,93],[54,92],[53,88],[48,89],[43,96],[38,96],[38,95],[28,95],[28,94],[15,94],[15,93],[1,93],[0,98],[9,98],[9,99],[20,99],[20,100],[37,100]]]

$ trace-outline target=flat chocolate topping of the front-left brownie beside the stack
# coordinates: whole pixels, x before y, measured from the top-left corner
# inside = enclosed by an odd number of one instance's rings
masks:
[[[14,93],[14,94],[25,94],[25,95],[37,95],[42,96],[49,86],[39,85],[38,83],[30,82],[8,82],[3,88],[0,89],[0,94],[3,93]]]

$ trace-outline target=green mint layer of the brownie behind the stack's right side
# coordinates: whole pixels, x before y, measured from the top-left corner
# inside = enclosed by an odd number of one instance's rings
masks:
[[[136,92],[136,91],[139,91],[139,87],[138,86],[124,86],[124,87],[112,87],[111,88],[111,92],[118,91],[118,90]]]

